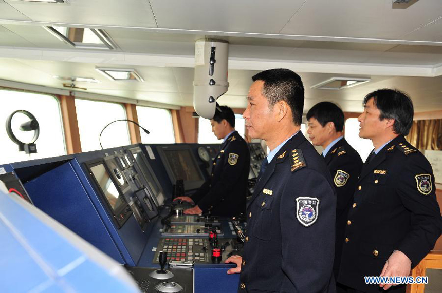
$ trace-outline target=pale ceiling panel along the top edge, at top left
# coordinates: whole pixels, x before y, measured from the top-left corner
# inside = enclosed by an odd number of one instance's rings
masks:
[[[5,1],[38,22],[157,27],[149,1],[75,0],[70,4]]]

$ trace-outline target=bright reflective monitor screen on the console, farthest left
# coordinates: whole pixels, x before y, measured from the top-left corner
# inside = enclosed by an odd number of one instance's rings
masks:
[[[121,199],[120,193],[118,192],[117,187],[109,176],[109,173],[107,172],[104,165],[98,164],[96,166],[90,167],[90,170],[94,174],[95,179],[100,185],[104,197],[109,205],[114,211],[118,211],[125,203]]]

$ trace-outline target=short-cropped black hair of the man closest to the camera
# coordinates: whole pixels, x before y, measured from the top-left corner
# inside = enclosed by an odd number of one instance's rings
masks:
[[[270,107],[278,101],[285,101],[291,109],[294,124],[301,125],[304,85],[298,74],[289,69],[269,69],[253,75],[252,80],[264,82],[263,95]]]

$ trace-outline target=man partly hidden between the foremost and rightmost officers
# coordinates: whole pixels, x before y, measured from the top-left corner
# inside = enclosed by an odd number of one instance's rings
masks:
[[[338,277],[341,250],[347,226],[347,214],[353,199],[356,183],[362,169],[359,153],[342,136],[344,113],[338,105],[320,102],[307,112],[310,141],[322,146],[322,157],[336,189],[336,243],[333,274]]]

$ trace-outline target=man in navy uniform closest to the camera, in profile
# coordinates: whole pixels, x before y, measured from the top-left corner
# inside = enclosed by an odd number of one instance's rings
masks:
[[[335,292],[332,272],[336,195],[324,160],[300,131],[301,77],[271,69],[252,77],[243,117],[266,141],[259,180],[247,203],[238,292]]]

